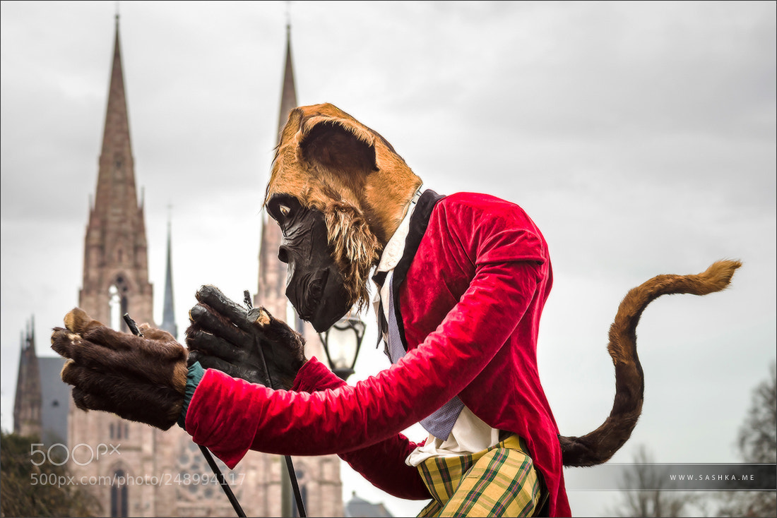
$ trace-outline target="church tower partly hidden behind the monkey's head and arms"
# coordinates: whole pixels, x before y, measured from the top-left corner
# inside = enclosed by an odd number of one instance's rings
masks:
[[[291,26],[286,26],[286,59],[280,93],[277,136],[283,130],[289,112],[297,107],[297,89],[294,84],[294,67],[291,60]],[[263,213],[260,235],[259,283],[253,297],[255,306],[264,306],[277,318],[288,322],[305,336],[305,355],[325,358],[318,333],[312,325],[294,314],[286,298],[286,265],[277,257],[280,247],[280,227]],[[291,315],[291,316],[289,316]],[[292,324],[293,322],[293,324]],[[281,483],[281,515],[299,516],[294,495],[283,464]],[[336,455],[322,457],[294,457],[294,471],[308,514],[313,516],[343,516],[343,483],[340,479],[340,458]]]

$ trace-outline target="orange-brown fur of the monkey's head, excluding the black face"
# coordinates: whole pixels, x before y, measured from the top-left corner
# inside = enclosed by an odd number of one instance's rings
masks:
[[[289,113],[264,203],[294,196],[323,214],[348,302],[361,306],[368,301],[370,269],[420,186],[380,134],[336,106],[319,104]]]

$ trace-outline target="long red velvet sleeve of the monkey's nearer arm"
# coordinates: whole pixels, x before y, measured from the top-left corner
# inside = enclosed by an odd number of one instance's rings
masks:
[[[341,454],[389,439],[483,370],[527,310],[536,275],[531,262],[477,266],[469,289],[435,332],[389,369],[353,386],[274,391],[207,370],[186,413],[186,431],[231,468],[249,449]]]

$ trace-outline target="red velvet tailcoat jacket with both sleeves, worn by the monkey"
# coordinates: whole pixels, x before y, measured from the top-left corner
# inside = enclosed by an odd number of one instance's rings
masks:
[[[186,430],[230,468],[249,449],[340,454],[386,492],[429,499],[405,464],[416,444],[399,432],[458,395],[493,428],[524,438],[549,489],[549,513],[569,516],[558,429],[536,361],[551,284],[545,239],[520,207],[482,194],[448,196],[431,210],[399,286],[402,360],[349,386],[314,358],[292,391],[207,370]]]

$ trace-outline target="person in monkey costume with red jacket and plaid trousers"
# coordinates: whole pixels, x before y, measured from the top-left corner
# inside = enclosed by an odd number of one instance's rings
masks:
[[[321,332],[368,305],[374,283],[391,367],[347,385],[284,322],[205,286],[188,349],[147,325],[140,338],[68,313],[52,347],[69,358],[78,408],[178,422],[230,468],[248,450],[339,454],[392,495],[430,499],[420,516],[570,516],[563,465],[606,461],[628,439],[642,370],[635,348],[611,349],[628,404],[588,436],[559,436],[536,354],[552,267],[524,210],[424,190],[391,144],[329,104],[291,111],[265,205],[298,315]],[[702,275],[719,290],[737,266]],[[421,443],[401,433],[416,422]]]

